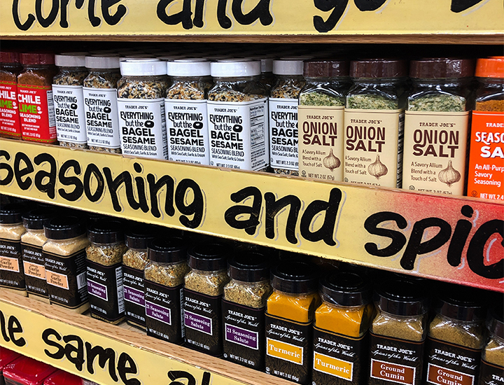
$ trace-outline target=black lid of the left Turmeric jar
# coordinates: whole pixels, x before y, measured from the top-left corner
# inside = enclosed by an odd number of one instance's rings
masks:
[[[316,267],[307,262],[281,262],[271,270],[271,284],[283,293],[312,293],[317,289]]]

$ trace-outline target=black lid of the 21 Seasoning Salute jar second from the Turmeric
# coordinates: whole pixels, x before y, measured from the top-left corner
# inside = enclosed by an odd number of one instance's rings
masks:
[[[223,244],[197,244],[188,255],[192,269],[215,272],[227,267],[228,248]]]

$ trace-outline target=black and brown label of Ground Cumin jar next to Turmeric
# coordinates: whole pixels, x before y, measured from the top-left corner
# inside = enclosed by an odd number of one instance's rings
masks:
[[[370,335],[369,385],[421,384],[423,341]]]

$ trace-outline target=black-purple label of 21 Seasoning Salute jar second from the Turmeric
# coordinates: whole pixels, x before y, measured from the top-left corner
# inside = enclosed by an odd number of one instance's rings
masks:
[[[184,288],[186,346],[212,356],[222,354],[222,295],[204,295]]]

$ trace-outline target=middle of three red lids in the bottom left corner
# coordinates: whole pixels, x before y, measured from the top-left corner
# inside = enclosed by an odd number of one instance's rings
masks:
[[[6,383],[10,380],[16,385],[42,385],[44,379],[55,371],[55,367],[23,357],[4,367],[3,377]]]

